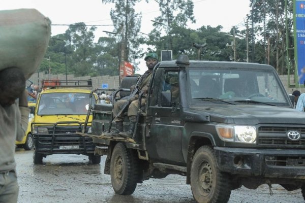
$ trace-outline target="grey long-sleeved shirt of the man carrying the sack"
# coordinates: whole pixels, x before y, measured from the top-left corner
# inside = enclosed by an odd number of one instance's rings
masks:
[[[18,99],[9,107],[0,105],[0,172],[15,170],[15,141],[22,141],[29,109],[19,107]]]

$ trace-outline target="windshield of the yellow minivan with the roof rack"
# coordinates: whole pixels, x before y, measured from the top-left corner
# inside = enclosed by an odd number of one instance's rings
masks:
[[[37,115],[86,115],[88,107],[89,93],[45,93],[40,96]]]

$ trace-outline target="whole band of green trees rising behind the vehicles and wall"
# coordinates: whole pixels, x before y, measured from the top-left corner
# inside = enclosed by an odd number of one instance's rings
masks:
[[[231,61],[235,51],[236,61],[246,62],[248,35],[250,62],[269,63],[280,74],[287,73],[285,0],[256,0],[254,5],[254,0],[250,0],[252,10],[246,19],[248,30],[232,28],[228,33],[222,31],[221,25],[203,25],[196,30],[188,28],[187,23],[195,22],[192,0],[155,0],[159,4],[160,16],[154,19],[156,22],[146,40],[140,32],[141,13],[134,10],[140,1],[102,0],[105,4],[115,5],[110,12],[115,33],[94,42],[96,27],[88,27],[83,22],[71,24],[65,33],[51,37],[39,71],[65,74],[67,67],[67,73],[76,76],[115,76],[122,60],[130,61],[137,69],[135,60],[144,57],[139,48],[143,44],[149,46],[147,52],[154,51],[159,56],[161,50],[172,50],[173,59],[186,54],[193,60]],[[292,0],[288,0],[288,30],[293,26],[292,17]],[[288,31],[287,35],[288,46],[293,47],[293,32]],[[206,46],[198,49],[194,44]],[[293,58],[291,50],[289,59],[292,66]]]

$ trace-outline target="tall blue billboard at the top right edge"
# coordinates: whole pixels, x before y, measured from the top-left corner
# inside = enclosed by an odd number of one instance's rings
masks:
[[[294,57],[298,80],[296,85],[305,81],[305,0],[293,1]]]

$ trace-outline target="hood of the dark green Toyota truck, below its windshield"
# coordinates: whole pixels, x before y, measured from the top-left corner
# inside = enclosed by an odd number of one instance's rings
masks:
[[[265,105],[217,105],[192,107],[191,111],[208,114],[211,122],[256,125],[259,123],[305,124],[305,113],[285,107]]]

